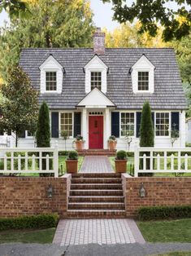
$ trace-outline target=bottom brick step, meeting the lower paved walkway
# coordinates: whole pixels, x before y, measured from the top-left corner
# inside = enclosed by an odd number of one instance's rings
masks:
[[[67,210],[67,218],[125,218],[125,210]]]

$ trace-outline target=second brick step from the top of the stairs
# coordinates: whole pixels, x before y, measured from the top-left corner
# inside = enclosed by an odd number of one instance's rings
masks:
[[[121,184],[120,178],[76,178],[71,180],[71,183],[119,183]]]

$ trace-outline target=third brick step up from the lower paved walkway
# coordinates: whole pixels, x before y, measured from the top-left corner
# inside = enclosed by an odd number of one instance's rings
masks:
[[[124,202],[124,196],[70,196],[69,202]]]

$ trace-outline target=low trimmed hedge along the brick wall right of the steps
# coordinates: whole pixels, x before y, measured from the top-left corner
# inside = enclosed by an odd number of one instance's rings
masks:
[[[141,207],[137,212],[137,217],[139,220],[191,218],[191,205]]]

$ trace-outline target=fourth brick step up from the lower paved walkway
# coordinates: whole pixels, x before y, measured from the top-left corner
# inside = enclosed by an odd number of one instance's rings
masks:
[[[70,191],[70,196],[124,196],[124,193],[122,189],[75,189]]]

